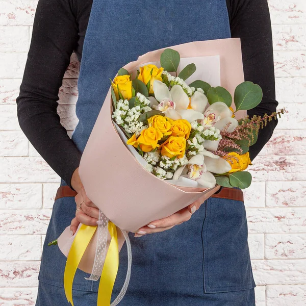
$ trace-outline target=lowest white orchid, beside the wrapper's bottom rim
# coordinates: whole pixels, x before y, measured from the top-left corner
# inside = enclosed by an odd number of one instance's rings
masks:
[[[216,178],[211,173],[222,174],[231,170],[231,165],[209,151],[202,151],[193,156],[187,166],[180,167],[173,174],[173,180],[186,177],[206,188],[214,188]]]

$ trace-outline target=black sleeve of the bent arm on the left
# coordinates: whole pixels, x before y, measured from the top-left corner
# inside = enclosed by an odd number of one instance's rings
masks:
[[[78,40],[74,15],[71,0],[39,0],[28,60],[16,99],[22,131],[70,187],[81,152],[60,123],[57,100]]]

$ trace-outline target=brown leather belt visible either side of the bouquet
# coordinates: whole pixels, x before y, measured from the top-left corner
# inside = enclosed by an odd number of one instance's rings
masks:
[[[77,195],[77,191],[72,190],[69,186],[60,186],[56,193],[55,199],[57,200],[61,197],[76,196],[76,195]],[[242,190],[235,189],[235,188],[223,187],[221,188],[221,191],[219,191],[216,194],[213,194],[212,197],[222,198],[222,199],[231,199],[231,200],[243,202]]]

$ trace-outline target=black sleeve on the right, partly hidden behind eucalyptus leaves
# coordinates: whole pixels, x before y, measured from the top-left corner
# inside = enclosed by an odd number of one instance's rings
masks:
[[[230,3],[230,7],[228,4]],[[271,20],[267,0],[227,0],[232,37],[241,38],[244,78],[258,84],[263,99],[247,114],[263,116],[276,111]],[[277,119],[260,130],[258,141],[250,147],[253,160],[271,138]]]

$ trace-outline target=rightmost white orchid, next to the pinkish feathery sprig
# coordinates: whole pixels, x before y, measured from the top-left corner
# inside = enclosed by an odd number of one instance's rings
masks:
[[[201,124],[208,129],[213,126],[219,131],[222,131],[225,126],[229,123],[226,132],[232,133],[239,125],[235,118],[232,118],[233,112],[228,108],[228,106],[223,102],[215,102],[207,108],[204,113],[204,119],[201,120]],[[211,151],[216,151],[218,149],[220,140],[206,140],[203,146]]]

